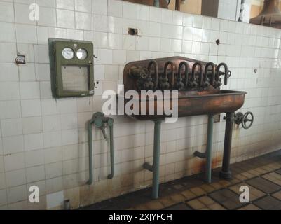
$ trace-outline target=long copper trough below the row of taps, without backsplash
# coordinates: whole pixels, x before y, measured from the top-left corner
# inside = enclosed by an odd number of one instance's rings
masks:
[[[179,92],[178,97],[178,117],[187,116],[199,116],[207,114],[227,113],[233,112],[240,109],[245,101],[245,94],[247,92],[239,92],[232,90],[206,90],[206,91],[189,91]],[[172,109],[172,94],[170,94],[170,104]],[[125,99],[125,104],[131,99]],[[138,115],[132,115],[138,120],[159,120],[169,116],[165,115],[164,105],[165,100],[162,99],[160,104],[158,99],[149,100],[146,98],[146,94],[139,94],[138,104],[139,113]],[[145,105],[146,104],[146,105]],[[149,113],[149,108],[153,106],[153,114]],[[160,108],[159,108],[160,107]],[[146,108],[146,114],[142,115],[142,108]],[[157,115],[157,111],[163,111],[163,115]]]

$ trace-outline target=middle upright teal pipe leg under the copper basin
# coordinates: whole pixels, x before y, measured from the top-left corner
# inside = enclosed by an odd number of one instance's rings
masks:
[[[208,118],[207,130],[207,150],[206,150],[206,181],[212,183],[212,144],[213,144],[213,126],[214,115],[210,114]]]

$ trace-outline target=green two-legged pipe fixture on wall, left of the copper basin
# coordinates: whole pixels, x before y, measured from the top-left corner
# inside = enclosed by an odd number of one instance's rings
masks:
[[[114,131],[113,131],[114,120],[112,118],[104,117],[103,113],[97,112],[92,116],[92,119],[88,122],[88,142],[89,142],[89,180],[88,184],[91,185],[93,182],[93,160],[92,160],[92,125],[95,125],[98,129],[102,130],[104,139],[107,139],[105,128],[109,127],[109,139],[110,139],[110,163],[111,173],[107,176],[108,179],[114,177]]]

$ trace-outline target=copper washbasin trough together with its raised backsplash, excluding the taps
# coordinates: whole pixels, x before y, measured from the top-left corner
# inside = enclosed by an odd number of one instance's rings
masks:
[[[181,71],[179,72],[179,65],[181,62],[187,62],[188,67],[188,75],[187,75],[187,81],[191,80],[193,73],[194,77],[196,78],[198,82],[198,86],[192,88],[187,88],[186,90],[178,90],[178,117],[186,117],[186,116],[198,116],[198,115],[208,115],[208,114],[217,114],[217,113],[227,113],[227,112],[234,112],[240,109],[245,101],[245,94],[247,92],[239,92],[239,91],[232,91],[232,90],[220,90],[219,86],[217,88],[214,88],[212,86],[213,80],[212,80],[212,67],[210,66],[209,69],[205,69],[206,62],[200,62],[193,59],[188,59],[185,57],[167,57],[163,59],[155,59],[155,60],[144,60],[139,62],[130,62],[125,66],[124,74],[123,74],[123,83],[124,83],[124,92],[127,92],[128,90],[137,90],[139,93],[139,99],[135,99],[138,101],[139,104],[139,113],[138,115],[132,115],[135,118],[139,120],[157,120],[166,118],[169,116],[165,115],[165,112],[163,110],[163,107],[165,105],[165,100],[170,100],[170,108],[172,109],[172,90],[177,90],[177,88],[170,89],[170,99],[160,99],[161,104],[159,104],[159,99],[149,99],[146,95],[146,93],[142,94],[139,87],[137,86],[137,78],[132,78],[132,69],[135,69],[137,73],[144,72],[142,69],[144,69],[147,73],[146,68],[149,67],[149,63],[151,61],[157,62],[157,71],[158,71],[158,79],[160,80],[161,76],[163,76],[164,70],[165,70],[165,64],[167,62],[172,62],[174,64],[174,77],[168,77],[169,83],[171,83],[171,80],[173,82],[176,82],[177,77],[179,76],[179,73],[182,73],[182,79],[184,78],[184,66],[182,66]],[[202,67],[195,66],[193,69],[194,64],[200,63],[202,64]],[[167,73],[168,75],[172,73],[172,66],[167,66]],[[137,69],[136,69],[137,68]],[[200,74],[201,69],[201,74]],[[203,82],[203,77],[205,76],[204,73],[207,71],[207,77],[209,78],[210,85],[205,87],[200,86],[200,82]],[[219,71],[219,73],[216,73],[217,66],[214,66],[214,82],[217,80],[219,81],[219,76],[224,76],[224,73]],[[151,79],[155,83],[155,72],[156,69],[151,69]],[[200,78],[201,76],[201,78]],[[201,79],[201,81],[200,81]],[[160,82],[158,80],[158,83]],[[184,83],[184,81],[183,81]],[[202,84],[202,83],[201,83]],[[226,82],[227,84],[227,78]],[[159,84],[158,84],[159,85]],[[159,90],[159,88],[157,88]],[[155,88],[154,88],[155,90]],[[119,95],[121,96],[121,94]],[[131,99],[125,99],[125,104],[129,102]],[[166,102],[167,103],[167,102]],[[169,103],[167,103],[168,105]],[[153,106],[154,113],[149,114],[149,106]],[[161,108],[158,108],[161,107]],[[146,108],[146,113],[141,113],[142,109]],[[163,115],[157,115],[157,109],[163,110]],[[126,113],[125,113],[126,114]],[[158,113],[159,114],[159,113]],[[127,115],[127,114],[126,114]]]

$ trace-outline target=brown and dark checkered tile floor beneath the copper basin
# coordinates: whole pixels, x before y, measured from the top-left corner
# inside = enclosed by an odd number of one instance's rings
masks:
[[[81,209],[137,210],[281,210],[281,151],[231,165],[233,179],[219,179],[213,171],[212,183],[203,174],[160,185],[160,197],[151,200],[151,188],[92,204]],[[249,188],[249,203],[241,203],[240,187]]]

